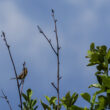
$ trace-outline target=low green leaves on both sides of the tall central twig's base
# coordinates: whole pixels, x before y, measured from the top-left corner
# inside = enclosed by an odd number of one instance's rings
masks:
[[[43,107],[44,110],[57,110],[57,104],[56,104],[56,97],[48,97],[45,96],[46,100],[48,101],[48,104],[45,104],[42,100],[41,100],[41,105]],[[76,101],[78,99],[78,94],[77,93],[73,93],[72,96],[70,95],[70,92],[68,92],[65,97],[61,98],[60,101],[60,107],[59,110],[62,108],[62,106],[65,107],[66,110],[88,110],[86,107],[85,108],[81,108],[75,105]]]

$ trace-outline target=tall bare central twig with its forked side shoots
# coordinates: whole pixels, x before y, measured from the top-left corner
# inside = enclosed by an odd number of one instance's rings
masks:
[[[60,59],[59,59],[59,50],[60,50],[60,47],[59,47],[59,39],[58,39],[58,34],[57,34],[57,25],[56,25],[56,22],[57,22],[57,19],[55,19],[55,16],[54,16],[54,10],[52,9],[52,18],[53,18],[53,21],[54,21],[54,25],[55,25],[55,30],[54,30],[54,32],[55,32],[55,36],[56,36],[56,45],[57,45],[57,47],[56,47],[56,50],[55,50],[55,48],[53,47],[53,45],[52,45],[52,43],[51,43],[51,40],[49,40],[48,39],[48,37],[45,35],[45,33],[42,31],[42,29],[39,27],[39,26],[37,26],[38,27],[38,30],[39,30],[39,32],[46,38],[46,40],[48,41],[48,43],[50,44],[50,46],[51,46],[51,48],[52,48],[52,50],[54,51],[54,53],[55,53],[55,55],[57,56],[57,87],[55,86],[55,84],[54,83],[51,83],[52,84],[52,86],[56,89],[56,91],[57,91],[57,97],[58,97],[58,108],[57,108],[57,110],[59,110],[59,101],[60,101],[60,99],[59,99],[59,97],[60,97],[60,93],[59,93],[59,81],[60,81],[60,79],[61,79],[61,77],[60,77]]]

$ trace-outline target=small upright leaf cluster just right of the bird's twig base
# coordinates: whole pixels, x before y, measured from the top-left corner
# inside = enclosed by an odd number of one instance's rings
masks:
[[[37,100],[31,99],[32,96],[32,90],[28,89],[27,94],[22,93],[22,96],[24,98],[23,102],[23,110],[36,110],[38,106],[36,106]]]

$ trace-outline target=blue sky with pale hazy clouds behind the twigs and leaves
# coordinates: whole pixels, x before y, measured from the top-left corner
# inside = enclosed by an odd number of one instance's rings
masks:
[[[4,31],[11,46],[17,72],[26,61],[28,76],[24,92],[31,88],[33,98],[44,100],[44,96],[56,96],[51,82],[56,83],[56,56],[49,44],[37,30],[40,25],[55,45],[54,24],[51,8],[58,19],[58,35],[61,45],[60,96],[67,91],[90,92],[95,83],[95,68],[86,67],[85,59],[91,42],[110,47],[110,1],[109,0],[0,0],[0,31]],[[3,40],[0,40],[0,89],[11,100],[13,108],[18,104],[16,81],[13,67]],[[88,106],[79,98],[77,104]],[[0,108],[8,105],[0,100]],[[39,108],[40,109],[40,108]]]

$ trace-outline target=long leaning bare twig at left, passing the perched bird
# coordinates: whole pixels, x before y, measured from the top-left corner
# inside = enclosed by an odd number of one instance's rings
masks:
[[[14,64],[14,60],[13,60],[12,55],[11,55],[10,46],[7,43],[7,40],[6,40],[4,32],[2,32],[1,37],[3,37],[3,40],[4,40],[5,44],[6,44],[6,47],[8,49],[9,56],[10,56],[10,59],[11,59],[12,65],[13,65],[13,69],[14,69],[14,73],[15,73],[15,77],[16,77],[16,81],[17,81],[17,88],[18,88],[19,99],[20,99],[20,107],[21,107],[21,110],[22,110],[22,96],[20,94],[20,85],[19,85],[19,81],[18,81],[18,78],[17,78],[17,72],[16,72],[16,67],[15,67],[15,64]]]

